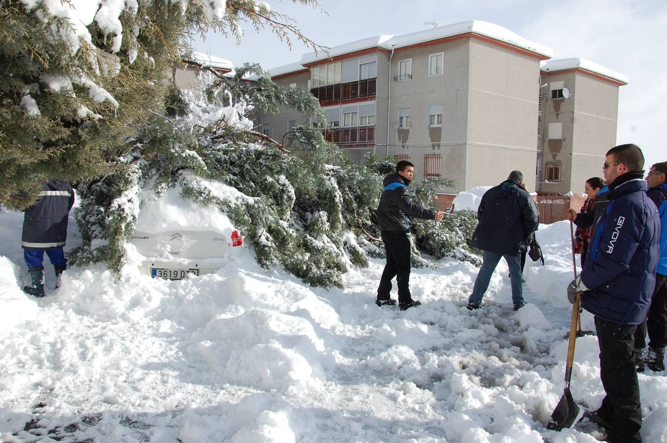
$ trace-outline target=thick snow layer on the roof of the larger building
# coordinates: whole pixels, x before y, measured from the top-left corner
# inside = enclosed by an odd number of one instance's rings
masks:
[[[301,57],[301,65],[305,65],[306,63],[311,63],[313,61],[327,59],[328,57],[336,57],[337,55],[352,53],[354,51],[361,51],[363,49],[372,47],[396,49],[465,33],[483,35],[484,37],[502,41],[504,43],[526,49],[527,51],[543,55],[544,57],[553,57],[554,55],[550,48],[542,46],[528,39],[524,39],[524,37],[513,33],[509,29],[494,25],[493,23],[488,23],[486,21],[473,20],[454,23],[452,25],[439,26],[432,29],[426,29],[424,31],[418,31],[404,35],[376,35],[374,37],[368,37],[366,39],[345,43],[344,45],[334,46],[329,49],[328,55],[323,51],[305,53]]]

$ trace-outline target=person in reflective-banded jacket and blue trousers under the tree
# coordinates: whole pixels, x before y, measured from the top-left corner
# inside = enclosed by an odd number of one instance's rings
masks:
[[[44,251],[55,268],[56,287],[67,268],[63,252],[67,239],[69,210],[74,205],[74,191],[69,182],[51,180],[42,185],[39,200],[25,210],[21,247],[33,282],[23,291],[35,297],[44,296]]]

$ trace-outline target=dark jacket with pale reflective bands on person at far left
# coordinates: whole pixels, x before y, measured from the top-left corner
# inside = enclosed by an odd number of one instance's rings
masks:
[[[67,181],[42,185],[39,200],[25,210],[21,247],[47,250],[65,246],[67,215],[74,205],[74,191]]]

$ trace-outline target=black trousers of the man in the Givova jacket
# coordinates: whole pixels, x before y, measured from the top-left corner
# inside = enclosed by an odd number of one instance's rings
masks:
[[[610,443],[641,442],[642,407],[634,366],[634,332],[637,326],[608,322],[595,316],[600,345],[600,380],[606,396],[598,409],[612,424]]]

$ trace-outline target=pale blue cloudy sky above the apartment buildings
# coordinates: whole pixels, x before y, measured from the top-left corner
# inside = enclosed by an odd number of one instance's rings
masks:
[[[588,59],[630,79],[620,87],[617,143],[640,146],[647,167],[667,161],[662,133],[667,127],[667,3],[662,0],[322,0],[326,13],[291,1],[268,3],[293,18],[306,37],[328,47],[422,31],[429,27],[424,21],[449,25],[484,20],[550,47],[554,57]],[[290,51],[268,30],[255,33],[249,23],[241,27],[245,35],[240,45],[233,37],[209,35],[193,41],[193,47],[235,65],[255,61],[264,69],[299,61],[311,51],[295,39]]]

